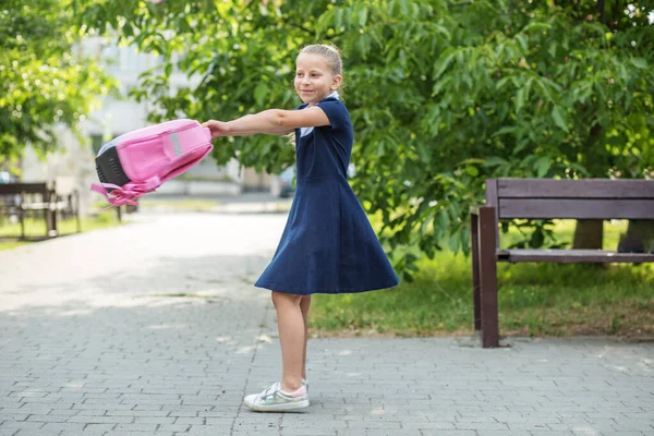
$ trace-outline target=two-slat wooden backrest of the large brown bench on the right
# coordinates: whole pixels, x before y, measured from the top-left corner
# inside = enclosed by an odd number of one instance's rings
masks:
[[[654,180],[487,180],[486,203],[498,220],[654,219]]]

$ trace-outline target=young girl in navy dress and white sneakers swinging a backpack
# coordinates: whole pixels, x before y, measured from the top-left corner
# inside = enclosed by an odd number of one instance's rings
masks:
[[[281,241],[255,283],[272,291],[281,344],[282,376],[244,403],[259,412],[308,405],[306,317],[313,293],[350,293],[391,288],[390,266],[347,180],[352,121],[340,101],[341,58],[332,46],[307,46],[298,56],[296,110],[265,110],[203,125],[217,136],[294,131],[296,189]]]

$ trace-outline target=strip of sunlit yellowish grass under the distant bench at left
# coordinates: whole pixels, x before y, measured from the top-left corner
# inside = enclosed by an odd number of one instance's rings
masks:
[[[106,210],[96,216],[82,219],[82,231],[105,229],[119,226],[114,210]],[[60,235],[77,232],[77,223],[74,219],[59,220],[57,227]],[[46,223],[43,218],[25,219],[25,235],[27,238],[41,238],[46,234]],[[16,246],[33,244],[35,241],[23,241],[21,237],[20,222],[12,222],[5,217],[0,219],[0,250],[11,250]]]

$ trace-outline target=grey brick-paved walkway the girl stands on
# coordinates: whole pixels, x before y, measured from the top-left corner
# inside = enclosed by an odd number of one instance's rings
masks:
[[[654,344],[604,339],[312,339],[312,405],[245,410],[279,375],[252,283],[284,220],[166,215],[0,252],[0,435],[654,435]]]

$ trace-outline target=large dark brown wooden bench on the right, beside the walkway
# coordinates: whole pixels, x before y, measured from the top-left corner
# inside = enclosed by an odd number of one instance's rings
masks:
[[[654,219],[654,180],[486,180],[486,205],[471,208],[474,328],[498,347],[497,262],[645,263],[650,253],[603,250],[500,250],[500,220]]]

